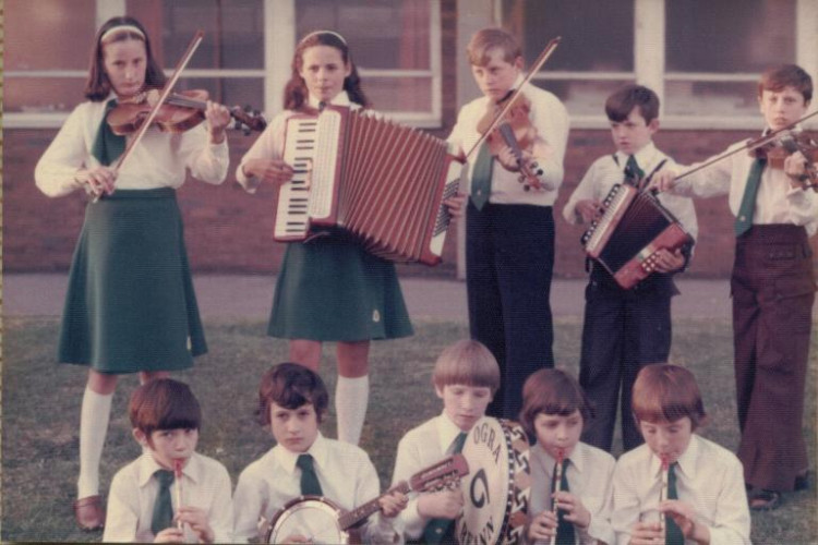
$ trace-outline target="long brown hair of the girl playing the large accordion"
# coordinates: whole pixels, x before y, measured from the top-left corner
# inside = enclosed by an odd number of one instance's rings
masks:
[[[286,110],[301,110],[308,104],[309,90],[304,78],[301,77],[301,69],[304,65],[304,51],[314,46],[329,46],[340,51],[344,63],[349,64],[350,68],[349,75],[344,78],[344,90],[347,92],[352,102],[357,102],[364,108],[370,106],[366,95],[361,89],[361,78],[349,55],[347,43],[337,33],[316,32],[308,34],[296,47],[296,53],[292,56],[292,74],[284,88],[284,108]]]

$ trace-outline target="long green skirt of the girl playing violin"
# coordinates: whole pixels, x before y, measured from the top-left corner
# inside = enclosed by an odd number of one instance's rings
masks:
[[[120,190],[89,203],[59,361],[100,373],[177,371],[205,352],[176,191]]]

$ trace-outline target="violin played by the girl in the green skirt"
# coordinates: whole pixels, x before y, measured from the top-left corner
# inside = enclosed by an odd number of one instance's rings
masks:
[[[113,108],[107,117],[113,134],[121,136],[139,131],[156,106],[157,94],[157,90],[142,93],[136,100],[122,102]],[[205,119],[207,98],[208,94],[204,89],[172,93],[159,106],[153,123],[163,132],[182,133],[193,129]],[[249,108],[242,110],[238,106],[229,111],[236,120],[234,129],[242,129],[245,134],[250,131],[263,131],[267,126],[267,122],[257,111],[251,111]]]

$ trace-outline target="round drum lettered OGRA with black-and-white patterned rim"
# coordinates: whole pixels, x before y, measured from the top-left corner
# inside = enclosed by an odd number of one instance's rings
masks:
[[[522,426],[484,416],[469,432],[462,456],[470,472],[460,483],[464,511],[456,523],[458,543],[521,542],[531,487],[529,443]]]

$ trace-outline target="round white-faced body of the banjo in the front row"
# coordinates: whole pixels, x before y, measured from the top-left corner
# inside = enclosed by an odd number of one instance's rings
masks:
[[[263,543],[291,543],[289,538],[296,535],[305,537],[308,543],[356,543],[354,536],[338,524],[342,513],[340,507],[326,498],[299,496],[270,519],[263,532]]]

